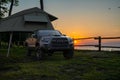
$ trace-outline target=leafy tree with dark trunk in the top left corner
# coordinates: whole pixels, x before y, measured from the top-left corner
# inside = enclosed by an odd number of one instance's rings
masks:
[[[10,5],[10,9],[8,5]],[[18,0],[0,0],[0,18],[3,18],[5,13],[10,15],[13,6],[18,6]]]

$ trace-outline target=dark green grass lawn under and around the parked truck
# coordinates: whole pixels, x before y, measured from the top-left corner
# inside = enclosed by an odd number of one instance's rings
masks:
[[[27,57],[24,48],[10,56],[0,50],[0,80],[119,80],[120,52],[75,51],[73,59],[61,53],[42,61]]]

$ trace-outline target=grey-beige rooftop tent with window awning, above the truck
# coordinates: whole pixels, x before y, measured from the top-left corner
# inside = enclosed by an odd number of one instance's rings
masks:
[[[45,11],[34,7],[2,19],[0,32],[33,32],[38,29],[54,29],[51,21],[56,19]]]

